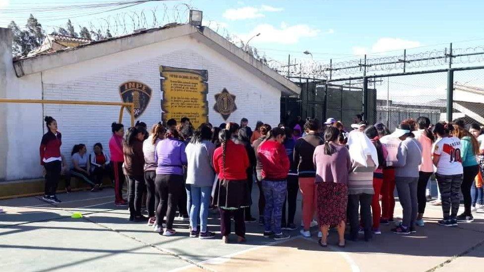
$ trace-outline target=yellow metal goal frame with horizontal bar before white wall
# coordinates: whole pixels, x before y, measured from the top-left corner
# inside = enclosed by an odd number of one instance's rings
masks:
[[[35,100],[35,99],[0,99],[0,103],[27,103],[27,104],[62,104],[62,105],[99,105],[99,106],[121,106],[119,122],[122,121],[124,108],[129,109],[131,126],[134,126],[134,104],[126,102],[98,102],[98,101],[66,101],[66,100]]]

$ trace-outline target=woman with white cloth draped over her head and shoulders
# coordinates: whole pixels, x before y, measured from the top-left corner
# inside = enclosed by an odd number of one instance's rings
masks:
[[[350,221],[350,240],[358,239],[358,210],[361,205],[364,240],[372,237],[371,200],[373,198],[373,171],[378,167],[378,154],[370,139],[359,130],[350,132],[348,145],[351,169],[348,176],[348,218]]]

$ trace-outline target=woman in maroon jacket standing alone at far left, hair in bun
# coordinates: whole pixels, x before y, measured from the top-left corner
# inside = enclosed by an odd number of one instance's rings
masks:
[[[40,164],[45,168],[46,179],[45,194],[42,199],[51,203],[60,203],[56,191],[62,164],[62,157],[60,156],[62,135],[57,131],[56,119],[46,116],[44,120],[49,131],[44,134],[40,143]]]

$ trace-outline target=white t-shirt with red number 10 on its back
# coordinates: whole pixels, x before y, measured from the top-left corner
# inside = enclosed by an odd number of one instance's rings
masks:
[[[440,156],[437,163],[437,174],[458,175],[463,173],[462,144],[457,137],[439,138],[433,147],[433,154]]]

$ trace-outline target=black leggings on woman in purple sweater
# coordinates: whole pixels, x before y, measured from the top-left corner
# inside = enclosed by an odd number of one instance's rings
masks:
[[[156,210],[156,224],[160,225],[166,216],[167,229],[173,229],[173,220],[177,212],[178,199],[183,187],[182,175],[157,174],[155,179],[156,193],[160,197],[160,204]],[[185,209],[186,209],[186,205]]]

